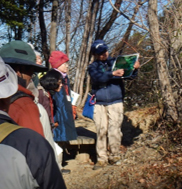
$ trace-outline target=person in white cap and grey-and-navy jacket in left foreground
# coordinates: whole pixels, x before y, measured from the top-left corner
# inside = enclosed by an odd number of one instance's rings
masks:
[[[18,78],[0,57],[0,188],[66,189],[49,142],[8,115]]]

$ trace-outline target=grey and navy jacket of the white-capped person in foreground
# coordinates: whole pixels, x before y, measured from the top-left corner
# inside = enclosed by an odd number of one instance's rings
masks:
[[[0,124],[4,122],[15,124],[0,114]],[[66,188],[53,149],[37,132],[15,130],[0,143],[0,149],[1,188]]]

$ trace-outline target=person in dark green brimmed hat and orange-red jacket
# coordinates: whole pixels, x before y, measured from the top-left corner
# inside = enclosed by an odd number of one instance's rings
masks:
[[[19,40],[5,44],[0,50],[0,56],[18,76],[18,91],[11,98],[9,115],[17,124],[44,136],[34,96],[26,87],[33,73],[45,71],[46,67],[36,64],[36,56],[30,45]]]

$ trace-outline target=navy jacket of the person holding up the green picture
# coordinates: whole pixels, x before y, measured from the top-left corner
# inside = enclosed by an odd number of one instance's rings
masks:
[[[92,94],[96,96],[96,104],[110,105],[123,101],[124,83],[121,77],[112,75],[115,58],[108,58],[105,62],[96,60],[88,66],[92,82]],[[131,79],[137,75],[133,72]]]

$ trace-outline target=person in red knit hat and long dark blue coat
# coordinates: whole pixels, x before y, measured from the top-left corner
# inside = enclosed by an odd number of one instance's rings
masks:
[[[66,142],[77,139],[77,132],[71,104],[70,82],[68,72],[68,56],[61,51],[52,51],[49,62],[54,71],[62,76],[62,88],[53,94],[54,122],[58,126],[53,130],[56,142]]]

